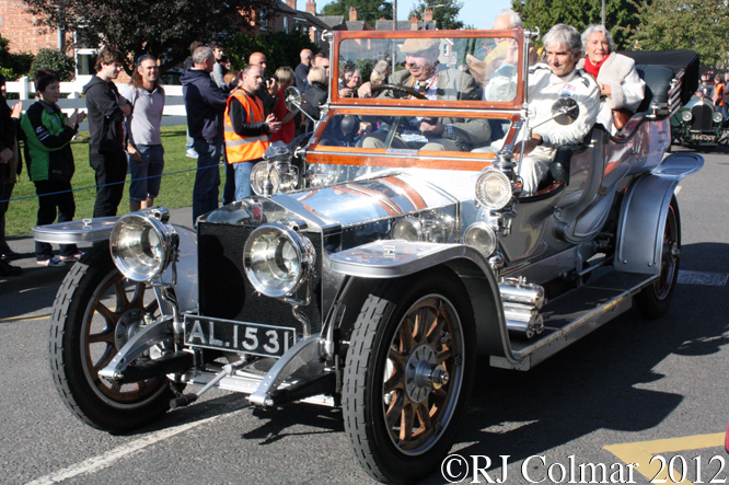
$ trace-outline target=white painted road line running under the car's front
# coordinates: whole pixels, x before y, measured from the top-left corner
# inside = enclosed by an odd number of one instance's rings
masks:
[[[212,423],[225,416],[238,414],[239,412],[247,407],[250,406],[246,405],[240,407],[240,405],[238,405],[238,406],[225,406],[222,409],[219,408],[216,411],[215,416],[210,416],[195,423],[187,423],[185,425],[180,425],[172,428],[166,428],[152,432],[149,436],[146,436],[143,438],[117,447],[113,450],[107,451],[106,453],[99,454],[96,457],[90,458],[88,460],[73,464],[63,470],[59,470],[56,473],[51,473],[49,475],[36,478],[33,482],[28,482],[26,485],[53,485],[62,482],[65,480],[72,478],[74,476],[83,475],[86,473],[99,472],[100,470],[111,466],[115,461],[123,459],[131,453],[135,453],[143,448],[147,448],[150,444],[154,444],[164,439],[172,438],[175,435],[180,435],[181,432],[187,431],[188,429],[195,428],[197,426]],[[225,408],[231,411],[225,411]]]

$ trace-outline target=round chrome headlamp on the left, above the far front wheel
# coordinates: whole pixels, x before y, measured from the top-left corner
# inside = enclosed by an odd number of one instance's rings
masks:
[[[134,281],[151,281],[162,275],[174,258],[177,233],[144,212],[130,212],[112,229],[109,246],[114,264]]]

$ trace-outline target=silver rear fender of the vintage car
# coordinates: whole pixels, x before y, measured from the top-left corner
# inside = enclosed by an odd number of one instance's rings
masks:
[[[618,272],[658,275],[666,216],[679,182],[704,166],[696,153],[674,153],[628,187],[617,226],[614,267]]]

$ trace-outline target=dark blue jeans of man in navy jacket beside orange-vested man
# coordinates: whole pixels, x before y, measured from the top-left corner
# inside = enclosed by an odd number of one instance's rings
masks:
[[[197,173],[195,174],[195,187],[193,188],[193,223],[204,213],[218,208],[218,196],[220,194],[220,151],[222,150],[222,138],[206,140],[195,138],[193,148],[197,152]]]

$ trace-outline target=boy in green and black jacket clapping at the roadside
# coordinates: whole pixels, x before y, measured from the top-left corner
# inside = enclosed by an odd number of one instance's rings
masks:
[[[73,152],[71,139],[79,130],[84,114],[73,112],[70,117],[56,104],[60,95],[58,74],[40,69],[35,74],[35,90],[39,101],[25,112],[21,128],[25,134],[25,162],[31,181],[38,195],[38,226],[73,220],[76,203],[71,192]],[[66,266],[66,261],[81,257],[76,244],[61,244],[61,254],[54,256],[48,243],[35,243],[35,257],[40,266]]]

